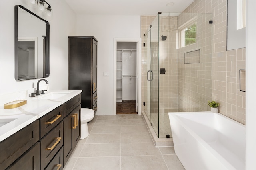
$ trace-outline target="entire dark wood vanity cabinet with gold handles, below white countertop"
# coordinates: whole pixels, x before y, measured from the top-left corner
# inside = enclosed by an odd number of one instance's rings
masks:
[[[62,170],[81,137],[80,103],[78,94],[1,141],[0,170]]]

